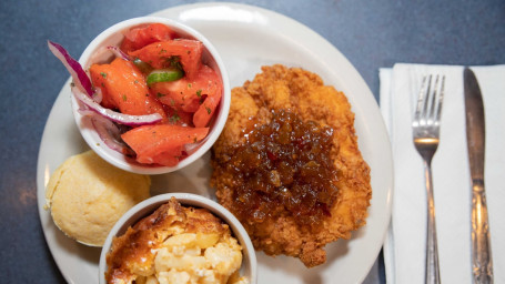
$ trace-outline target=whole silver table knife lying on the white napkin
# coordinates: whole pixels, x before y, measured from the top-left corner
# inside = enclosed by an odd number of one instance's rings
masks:
[[[481,88],[474,72],[465,68],[466,142],[472,178],[472,272],[474,283],[493,283],[489,224],[484,187],[486,129]]]

